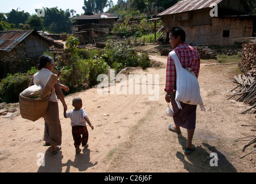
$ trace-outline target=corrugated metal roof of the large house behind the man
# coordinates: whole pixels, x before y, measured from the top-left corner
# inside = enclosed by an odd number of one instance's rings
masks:
[[[179,1],[174,6],[169,7],[167,10],[160,13],[158,16],[166,16],[169,14],[182,13],[185,11],[199,10],[210,7],[212,3],[216,5],[222,0],[185,0]]]

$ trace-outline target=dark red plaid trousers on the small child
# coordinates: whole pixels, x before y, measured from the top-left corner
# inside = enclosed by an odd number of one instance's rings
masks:
[[[86,126],[73,126],[72,135],[73,135],[75,147],[80,146],[81,143],[82,145],[87,144],[89,135],[88,135],[88,130]]]

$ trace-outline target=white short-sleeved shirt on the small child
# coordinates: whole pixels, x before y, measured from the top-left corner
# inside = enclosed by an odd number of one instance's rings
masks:
[[[84,109],[80,110],[70,110],[68,113],[66,113],[66,117],[70,118],[71,120],[71,126],[86,126],[86,122],[84,117],[86,117],[87,114]]]

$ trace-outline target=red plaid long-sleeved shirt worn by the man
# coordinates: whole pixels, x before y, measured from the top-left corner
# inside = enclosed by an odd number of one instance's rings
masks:
[[[183,68],[191,68],[194,71],[195,76],[199,75],[200,68],[200,55],[196,49],[191,47],[187,43],[179,44],[174,51],[178,56]],[[171,89],[174,91],[176,88],[176,68],[174,61],[170,54],[168,55],[167,68],[166,68],[166,83],[164,91]]]

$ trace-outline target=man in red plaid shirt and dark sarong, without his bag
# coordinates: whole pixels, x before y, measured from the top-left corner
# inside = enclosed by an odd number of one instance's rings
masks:
[[[196,49],[191,47],[186,41],[186,32],[182,27],[174,27],[170,30],[170,44],[176,55],[178,56],[183,68],[191,68],[198,78],[200,68],[200,56]],[[189,105],[180,102],[182,110],[178,108],[175,102],[176,95],[176,68],[174,60],[171,55],[168,55],[167,70],[166,70],[166,83],[165,101],[171,102],[172,109],[174,110],[174,125],[169,125],[168,129],[172,132],[181,133],[180,127],[187,129],[187,144],[184,152],[190,154],[194,149],[192,139],[195,131],[197,105]]]

